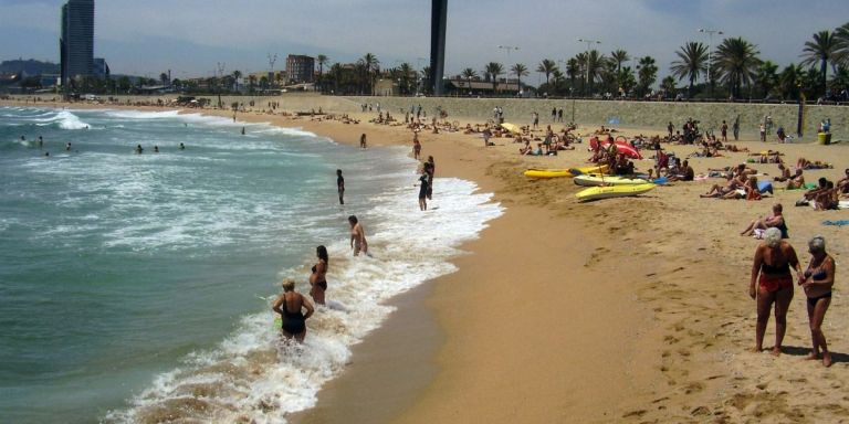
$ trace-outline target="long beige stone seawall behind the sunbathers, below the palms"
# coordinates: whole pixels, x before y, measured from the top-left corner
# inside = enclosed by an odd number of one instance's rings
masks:
[[[669,121],[680,129],[688,118],[698,119],[702,128],[714,128],[719,135],[722,121],[729,124],[729,136],[734,118],[740,115],[741,134],[747,138],[758,136],[758,126],[765,116],[773,118],[773,136],[783,126],[788,135],[796,134],[798,105],[763,105],[744,103],[674,103],[674,102],[621,102],[621,100],[570,100],[570,99],[521,99],[521,98],[455,98],[455,97],[346,97],[357,104],[380,104],[382,110],[399,114],[401,109],[421,105],[428,116],[441,107],[451,118],[486,119],[492,109],[501,106],[506,121],[525,125],[532,121],[534,112],[539,114],[539,124],[551,123],[552,108],[563,108],[565,121],[584,125],[621,126],[630,128],[665,128]],[[574,110],[574,112],[573,112]],[[803,141],[814,141],[821,119],[831,119],[832,139],[849,139],[849,107],[805,107]],[[618,123],[618,124],[617,124]],[[706,127],[705,127],[706,125]]]

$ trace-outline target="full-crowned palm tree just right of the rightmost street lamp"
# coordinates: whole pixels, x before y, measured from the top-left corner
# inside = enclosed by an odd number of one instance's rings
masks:
[[[729,85],[734,97],[740,97],[743,85],[754,80],[761,60],[755,45],[742,38],[725,39],[714,55],[720,81]]]

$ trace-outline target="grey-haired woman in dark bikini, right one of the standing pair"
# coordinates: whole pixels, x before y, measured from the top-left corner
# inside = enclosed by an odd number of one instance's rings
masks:
[[[828,352],[826,336],[822,333],[822,320],[831,305],[831,287],[835,285],[835,259],[826,253],[826,240],[817,235],[808,242],[810,258],[804,278],[799,279],[805,295],[808,297],[808,322],[814,349],[808,354],[809,360],[820,359],[822,364],[831,367],[831,353]]]

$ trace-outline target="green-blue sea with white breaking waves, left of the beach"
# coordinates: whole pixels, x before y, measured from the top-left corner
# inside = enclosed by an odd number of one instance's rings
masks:
[[[0,421],[308,410],[387,300],[454,272],[460,244],[503,213],[439,177],[439,158],[421,212],[408,153],[177,110],[0,107]],[[352,214],[371,256],[352,254]],[[327,306],[303,344],[283,342],[271,303],[286,277],[308,293],[318,245]]]

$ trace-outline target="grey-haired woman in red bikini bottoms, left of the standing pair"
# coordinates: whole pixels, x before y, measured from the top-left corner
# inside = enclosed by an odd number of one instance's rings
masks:
[[[755,250],[748,286],[748,296],[757,301],[754,352],[763,350],[769,311],[775,304],[775,346],[772,354],[776,357],[782,354],[782,341],[787,331],[787,309],[793,300],[790,267],[796,269],[798,278],[803,279],[801,265],[796,251],[789,243],[782,240],[780,230],[767,229],[764,232],[764,242]]]

